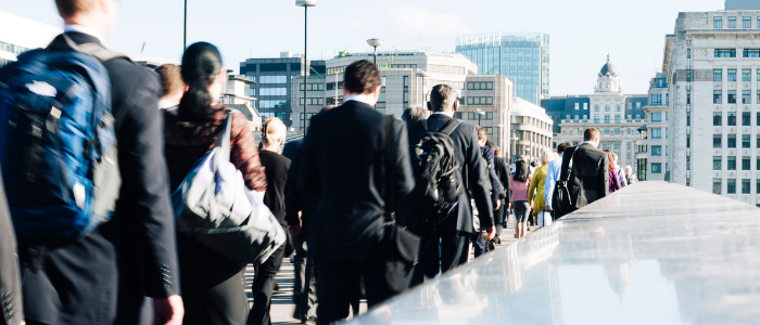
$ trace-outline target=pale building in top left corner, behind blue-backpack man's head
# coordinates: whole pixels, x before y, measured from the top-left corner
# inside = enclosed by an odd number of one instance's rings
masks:
[[[0,11],[0,67],[29,50],[46,48],[63,29]]]

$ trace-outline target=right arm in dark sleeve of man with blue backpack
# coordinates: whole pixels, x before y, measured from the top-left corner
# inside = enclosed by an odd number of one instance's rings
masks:
[[[136,229],[145,295],[167,298],[179,294],[179,269],[163,118],[155,108],[161,84],[155,73],[144,74],[137,84],[119,107],[125,112],[117,134],[123,183],[116,209],[126,209],[129,214],[123,217]]]

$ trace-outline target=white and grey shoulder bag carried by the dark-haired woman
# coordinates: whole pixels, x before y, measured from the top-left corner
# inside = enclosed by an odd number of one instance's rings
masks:
[[[264,262],[286,242],[286,234],[229,161],[231,125],[232,113],[214,148],[172,194],[177,231],[231,260]]]

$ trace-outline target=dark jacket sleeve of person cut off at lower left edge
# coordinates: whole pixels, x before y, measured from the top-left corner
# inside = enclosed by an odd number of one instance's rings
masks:
[[[0,324],[24,321],[21,276],[16,256],[16,234],[8,210],[3,182],[0,182]]]

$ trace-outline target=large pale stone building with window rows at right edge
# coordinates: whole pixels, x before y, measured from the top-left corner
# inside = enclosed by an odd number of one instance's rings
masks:
[[[682,12],[666,36],[670,181],[760,204],[760,11]]]

